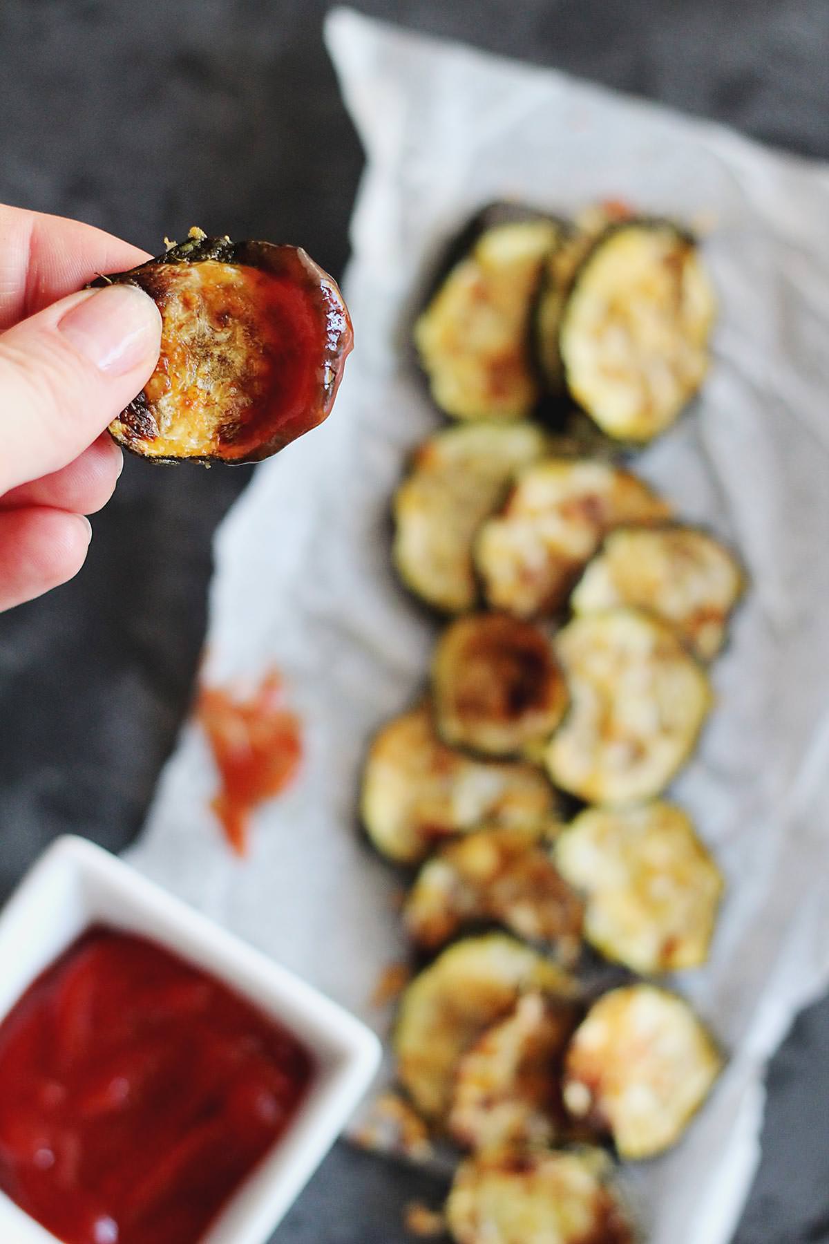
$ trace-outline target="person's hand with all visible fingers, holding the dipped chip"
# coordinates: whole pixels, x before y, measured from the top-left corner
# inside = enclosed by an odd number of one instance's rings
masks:
[[[162,321],[132,286],[77,290],[148,258],[89,225],[0,205],[0,610],[83,565],[85,515],[123,465],[102,433],[149,379]]]

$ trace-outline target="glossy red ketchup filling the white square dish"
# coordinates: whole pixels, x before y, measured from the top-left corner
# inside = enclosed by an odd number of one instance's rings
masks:
[[[221,982],[93,928],[0,1024],[0,1188],[66,1244],[198,1244],[312,1070]]]

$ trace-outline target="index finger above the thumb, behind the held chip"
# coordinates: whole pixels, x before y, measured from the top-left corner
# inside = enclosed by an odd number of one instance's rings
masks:
[[[121,272],[145,259],[147,251],[80,220],[0,204],[0,332],[98,272]]]

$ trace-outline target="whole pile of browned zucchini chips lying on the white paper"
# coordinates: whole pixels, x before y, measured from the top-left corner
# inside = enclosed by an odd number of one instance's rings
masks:
[[[611,1154],[672,1146],[721,1069],[660,983],[706,962],[722,892],[665,791],[743,576],[620,464],[698,389],[713,316],[677,224],[501,204],[414,328],[452,423],[394,498],[394,561],[446,621],[428,695],[372,743],[362,819],[413,871],[394,1051],[406,1102],[464,1151],[457,1244],[639,1238]]]

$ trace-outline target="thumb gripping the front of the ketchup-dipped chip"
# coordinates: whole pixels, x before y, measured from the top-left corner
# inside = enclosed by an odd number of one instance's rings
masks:
[[[149,379],[162,318],[133,285],[85,290],[0,336],[0,495],[66,466]]]

